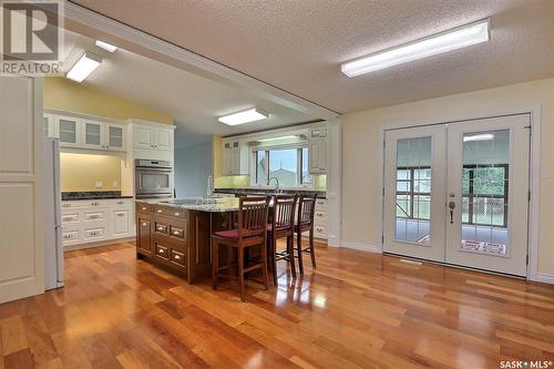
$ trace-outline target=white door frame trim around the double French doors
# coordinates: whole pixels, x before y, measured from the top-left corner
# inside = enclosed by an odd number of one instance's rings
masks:
[[[538,217],[540,217],[540,197],[541,197],[541,105],[524,106],[517,109],[506,109],[506,110],[494,110],[488,113],[479,115],[466,115],[456,116],[449,120],[424,120],[417,122],[399,122],[391,124],[383,124],[380,129],[381,142],[384,142],[384,132],[394,129],[408,129],[422,125],[434,125],[434,124],[449,124],[449,123],[460,123],[464,121],[482,120],[488,117],[504,116],[504,115],[515,115],[515,114],[530,114],[531,115],[531,162],[530,162],[530,189],[531,189],[531,202],[529,207],[529,268],[527,268],[527,279],[535,281],[543,281],[552,284],[552,277],[542,276],[538,274]],[[384,147],[381,145],[380,148],[380,185],[384,188]],[[379,208],[381,222],[381,253],[383,249],[382,235],[384,234],[384,197],[383,192],[380,193],[381,207]]]

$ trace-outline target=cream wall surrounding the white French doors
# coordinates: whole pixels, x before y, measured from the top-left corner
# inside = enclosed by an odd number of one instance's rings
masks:
[[[381,244],[381,127],[411,122],[447,122],[463,116],[541,106],[538,273],[554,275],[554,79],[474,91],[347,114],[342,121],[342,242]]]

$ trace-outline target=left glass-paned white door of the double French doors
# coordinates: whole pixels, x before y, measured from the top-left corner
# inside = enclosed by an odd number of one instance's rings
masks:
[[[383,248],[444,259],[445,127],[386,133]]]

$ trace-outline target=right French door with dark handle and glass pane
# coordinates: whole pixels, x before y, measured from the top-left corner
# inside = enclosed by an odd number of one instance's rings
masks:
[[[527,125],[529,115],[449,125],[448,263],[526,275]]]

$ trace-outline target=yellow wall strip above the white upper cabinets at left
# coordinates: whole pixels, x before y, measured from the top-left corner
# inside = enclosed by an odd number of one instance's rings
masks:
[[[63,110],[119,120],[137,117],[173,124],[173,117],[168,114],[62,76],[49,76],[44,79],[44,109]]]

